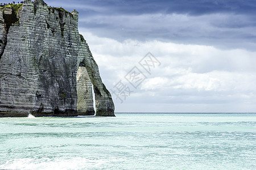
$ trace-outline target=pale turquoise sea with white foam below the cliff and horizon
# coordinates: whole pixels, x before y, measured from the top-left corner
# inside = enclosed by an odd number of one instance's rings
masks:
[[[256,169],[256,114],[0,118],[0,169]]]

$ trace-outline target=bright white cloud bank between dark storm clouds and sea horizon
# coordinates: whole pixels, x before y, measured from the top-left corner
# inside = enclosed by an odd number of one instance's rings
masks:
[[[138,90],[132,89],[125,103],[118,104],[112,94],[117,112],[140,112],[138,103],[143,112],[255,112],[256,52],[162,41],[119,42],[80,32],[108,89],[119,80],[129,86],[124,76],[134,66],[142,69],[138,62],[148,52],[162,63],[151,75],[144,72],[148,78]],[[159,107],[152,109],[155,104]]]

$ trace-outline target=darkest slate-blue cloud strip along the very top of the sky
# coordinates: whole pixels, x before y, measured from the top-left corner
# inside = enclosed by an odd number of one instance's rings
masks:
[[[105,14],[152,14],[160,12],[164,14],[190,14],[190,15],[203,15],[212,14],[216,12],[234,12],[236,14],[256,14],[256,3],[253,0],[249,1],[222,1],[222,0],[89,0],[89,1],[61,1],[67,4],[67,7],[77,6],[83,7],[83,5],[91,7],[105,8],[103,12]],[[48,3],[57,4],[60,1],[51,1]],[[89,11],[87,11],[90,14]]]

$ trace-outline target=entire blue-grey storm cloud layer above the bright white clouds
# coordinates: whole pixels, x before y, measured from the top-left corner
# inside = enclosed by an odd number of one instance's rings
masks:
[[[3,3],[9,1],[2,1]],[[10,1],[11,2],[11,1]],[[256,49],[256,1],[45,0],[79,11],[79,28],[118,41],[160,40]]]

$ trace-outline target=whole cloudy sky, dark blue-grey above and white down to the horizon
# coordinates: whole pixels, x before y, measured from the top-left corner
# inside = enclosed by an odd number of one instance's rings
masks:
[[[128,87],[112,93],[116,112],[256,112],[255,0],[45,2],[79,11],[106,87]]]

